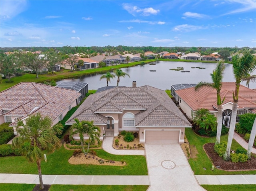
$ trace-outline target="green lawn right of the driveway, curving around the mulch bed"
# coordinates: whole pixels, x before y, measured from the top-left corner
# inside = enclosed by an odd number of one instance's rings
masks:
[[[188,159],[194,174],[196,175],[225,175],[225,174],[256,174],[256,170],[251,171],[224,171],[220,169],[211,170],[212,162],[206,155],[203,149],[203,145],[206,143],[215,143],[216,137],[203,138],[196,135],[192,128],[186,128],[185,130],[186,137],[190,144],[190,148],[192,148],[192,152],[194,148],[198,152],[196,158]],[[221,136],[220,141],[227,141],[228,135]],[[232,150],[236,150],[236,148],[241,147],[235,140],[232,141]],[[204,170],[206,168],[206,170]]]

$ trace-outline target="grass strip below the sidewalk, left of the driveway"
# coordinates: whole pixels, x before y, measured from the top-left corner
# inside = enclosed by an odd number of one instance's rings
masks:
[[[146,191],[147,185],[52,185],[49,191]]]

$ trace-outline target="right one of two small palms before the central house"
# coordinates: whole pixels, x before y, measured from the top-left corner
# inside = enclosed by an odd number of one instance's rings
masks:
[[[93,124],[93,121],[85,121],[84,128],[85,128],[86,134],[89,136],[88,148],[86,152],[86,154],[88,154],[90,143],[94,144],[96,140],[98,141],[98,143],[100,142],[100,128],[95,126]]]

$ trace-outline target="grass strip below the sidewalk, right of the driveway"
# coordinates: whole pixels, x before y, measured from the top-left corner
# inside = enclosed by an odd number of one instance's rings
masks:
[[[238,185],[201,185],[208,191],[255,191],[255,184],[238,184]]]

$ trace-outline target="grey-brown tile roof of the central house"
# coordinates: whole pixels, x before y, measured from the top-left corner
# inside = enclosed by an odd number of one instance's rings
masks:
[[[100,113],[123,113],[124,110],[140,110],[135,115],[136,126],[191,126],[165,91],[147,85],[114,87],[92,94],[66,124],[73,124],[74,118],[94,120],[95,124],[103,119],[106,124],[107,118]],[[100,120],[99,116],[102,116]]]

